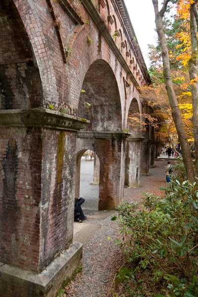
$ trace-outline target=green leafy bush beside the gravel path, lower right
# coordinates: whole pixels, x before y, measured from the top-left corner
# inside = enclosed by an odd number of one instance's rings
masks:
[[[144,195],[141,210],[132,202],[118,209],[117,242],[133,267],[130,281],[140,272],[151,277],[150,293],[140,296],[198,296],[198,179],[172,181],[163,199]]]

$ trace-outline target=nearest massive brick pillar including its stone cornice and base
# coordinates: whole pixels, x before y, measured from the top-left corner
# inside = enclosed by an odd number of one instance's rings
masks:
[[[0,111],[0,296],[55,296],[80,265],[73,148],[84,126],[49,109]]]

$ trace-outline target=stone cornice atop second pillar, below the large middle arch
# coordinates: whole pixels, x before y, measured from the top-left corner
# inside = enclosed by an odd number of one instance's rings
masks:
[[[122,131],[80,131],[77,133],[79,138],[103,138],[103,139],[126,139],[131,134]]]

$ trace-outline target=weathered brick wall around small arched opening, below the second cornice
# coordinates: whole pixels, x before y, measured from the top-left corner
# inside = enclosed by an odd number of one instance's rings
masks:
[[[115,209],[122,199],[124,187],[123,146],[125,140],[119,138],[78,138],[76,196],[79,196],[80,159],[87,149],[95,151],[99,158],[99,210]]]

